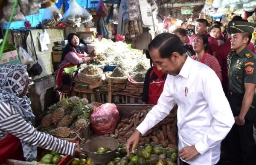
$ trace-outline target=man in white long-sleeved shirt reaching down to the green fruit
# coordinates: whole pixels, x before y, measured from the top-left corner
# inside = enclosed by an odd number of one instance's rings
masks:
[[[169,75],[157,105],[128,139],[127,153],[131,145],[134,151],[140,135],[169,115],[177,103],[180,158],[191,165],[215,165],[221,141],[234,124],[219,78],[211,68],[186,56],[174,34],[159,34],[148,50],[157,69]]]

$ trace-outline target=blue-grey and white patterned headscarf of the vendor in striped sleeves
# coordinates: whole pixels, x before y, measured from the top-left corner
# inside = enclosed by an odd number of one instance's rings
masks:
[[[30,107],[31,102],[26,95],[19,98],[26,86],[26,73],[26,66],[22,64],[6,64],[0,67],[0,102],[9,102],[23,119],[31,124],[30,120],[35,119]],[[25,159],[28,161],[35,159],[36,146],[20,141]]]

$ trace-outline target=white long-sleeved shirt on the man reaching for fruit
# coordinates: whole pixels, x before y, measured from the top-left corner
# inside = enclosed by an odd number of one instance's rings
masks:
[[[178,148],[195,145],[200,153],[187,163],[215,165],[220,159],[221,140],[234,124],[221,81],[207,65],[187,57],[177,76],[167,76],[157,105],[137,130],[145,134],[169,114],[175,102],[178,105]]]

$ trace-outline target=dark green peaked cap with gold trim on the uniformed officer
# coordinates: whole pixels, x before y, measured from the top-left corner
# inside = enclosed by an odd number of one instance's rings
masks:
[[[244,21],[234,21],[230,25],[230,32],[231,34],[242,33],[242,32],[248,32],[250,34],[253,34],[254,28],[255,28],[254,23],[244,22]]]

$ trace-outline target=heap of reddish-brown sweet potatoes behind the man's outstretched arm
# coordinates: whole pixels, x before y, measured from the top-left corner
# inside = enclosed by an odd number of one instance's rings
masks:
[[[121,120],[115,132],[109,136],[116,138],[119,143],[126,143],[150,110],[132,111],[130,117]],[[105,136],[108,136],[108,134]],[[151,140],[157,144],[162,144],[163,147],[177,146],[177,107],[172,109],[168,116],[140,137],[139,145],[144,145]]]

